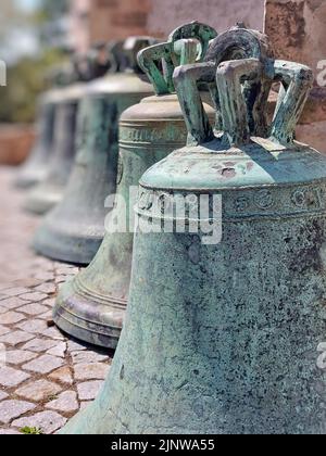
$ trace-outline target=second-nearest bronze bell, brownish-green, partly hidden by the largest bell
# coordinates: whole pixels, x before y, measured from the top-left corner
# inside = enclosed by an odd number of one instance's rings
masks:
[[[139,63],[153,83],[156,96],[128,109],[121,118],[116,206],[111,214],[114,229],[106,224],[108,232],[93,262],[63,287],[54,308],[57,325],[78,339],[116,347],[129,292],[133,207],[139,179],[154,163],[187,141],[184,116],[174,93],[173,69],[176,64],[202,60],[209,41],[215,36],[211,27],[187,24],[175,30],[168,42],[139,53]],[[161,61],[163,74],[158,66]],[[210,98],[208,93],[202,97]],[[205,110],[213,123],[214,110],[209,105]],[[134,202],[133,189],[136,190]],[[116,220],[122,220],[122,229],[115,229]]]

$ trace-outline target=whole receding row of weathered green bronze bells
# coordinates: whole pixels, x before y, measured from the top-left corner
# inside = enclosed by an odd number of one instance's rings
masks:
[[[61,289],[55,324],[117,347],[62,433],[326,433],[326,160],[294,141],[312,72],[241,25],[195,22],[117,53],[122,68],[45,96],[17,180],[34,186],[27,210],[51,208],[35,250],[88,265]],[[105,231],[113,194],[110,221],[137,218],[135,236]],[[171,232],[140,228],[166,220]]]

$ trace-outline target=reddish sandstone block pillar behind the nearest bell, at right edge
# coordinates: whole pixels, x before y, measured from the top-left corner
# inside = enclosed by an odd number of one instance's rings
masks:
[[[297,137],[326,153],[326,0],[266,0],[265,31],[278,58],[314,71],[314,89]]]

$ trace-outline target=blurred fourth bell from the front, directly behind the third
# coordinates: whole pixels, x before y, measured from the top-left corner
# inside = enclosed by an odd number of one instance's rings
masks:
[[[63,192],[75,157],[75,134],[78,103],[85,94],[89,76],[86,58],[77,56],[71,72],[72,84],[60,90],[55,104],[52,149],[46,177],[30,190],[24,208],[35,214],[45,214],[57,205]],[[90,59],[87,56],[88,62]],[[97,77],[95,73],[91,78]]]

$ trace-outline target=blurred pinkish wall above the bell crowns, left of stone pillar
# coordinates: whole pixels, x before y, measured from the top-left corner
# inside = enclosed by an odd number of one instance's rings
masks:
[[[165,37],[173,28],[193,20],[221,31],[239,21],[262,29],[263,17],[263,0],[92,0],[90,40],[129,35]]]

